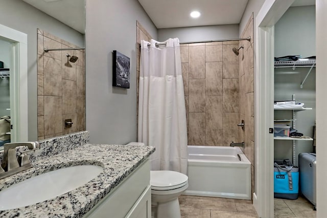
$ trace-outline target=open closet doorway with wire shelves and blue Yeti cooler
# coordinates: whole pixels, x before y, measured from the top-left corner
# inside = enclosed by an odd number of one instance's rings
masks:
[[[274,160],[288,159],[298,167],[294,171],[299,171],[294,191],[276,191],[279,198],[274,199],[275,216],[316,217],[316,177],[310,175],[315,173],[316,166],[307,167],[309,158],[315,160],[315,156],[308,153],[315,153],[316,145],[315,9],[315,1],[294,1],[274,25],[274,127],[290,130],[282,137],[281,133],[275,134]],[[296,173],[293,174],[297,178]],[[275,183],[278,181],[281,180],[274,178]]]

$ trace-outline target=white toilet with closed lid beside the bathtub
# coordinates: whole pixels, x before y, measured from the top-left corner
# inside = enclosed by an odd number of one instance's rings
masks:
[[[145,145],[131,142],[127,145]],[[170,170],[151,170],[152,214],[157,218],[180,217],[178,197],[189,187],[188,176]]]

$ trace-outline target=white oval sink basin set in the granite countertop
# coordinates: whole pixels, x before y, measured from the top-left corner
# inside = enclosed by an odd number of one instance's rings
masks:
[[[103,168],[80,165],[46,172],[0,191],[0,210],[25,207],[53,199],[97,177]]]

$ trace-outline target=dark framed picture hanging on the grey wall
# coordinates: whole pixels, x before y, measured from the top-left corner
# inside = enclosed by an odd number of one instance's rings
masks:
[[[112,51],[112,85],[129,89],[130,64],[129,57],[122,53]]]

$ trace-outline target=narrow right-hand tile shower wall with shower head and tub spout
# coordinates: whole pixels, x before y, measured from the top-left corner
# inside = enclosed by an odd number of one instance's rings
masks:
[[[254,71],[253,71],[253,14],[248,20],[246,28],[241,37],[246,38],[251,36],[251,41],[240,41],[239,47],[244,46],[240,50],[239,58],[239,84],[240,84],[240,98],[239,98],[239,116],[240,120],[244,120],[245,128],[239,129],[240,141],[245,142],[245,155],[251,162],[252,175],[252,192],[254,192]]]

